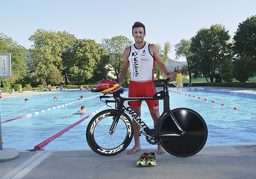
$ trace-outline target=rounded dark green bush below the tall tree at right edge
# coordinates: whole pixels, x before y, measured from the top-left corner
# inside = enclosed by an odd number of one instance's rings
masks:
[[[239,82],[246,82],[248,78],[254,76],[256,63],[251,56],[241,57],[234,62],[233,75]]]

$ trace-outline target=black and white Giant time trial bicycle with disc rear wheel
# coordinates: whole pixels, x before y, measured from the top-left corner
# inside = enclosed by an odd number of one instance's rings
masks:
[[[104,156],[116,155],[128,147],[132,141],[134,129],[132,120],[138,123],[150,144],[160,143],[171,155],[177,157],[190,157],[198,153],[205,145],[208,130],[206,122],[200,114],[188,108],[170,110],[168,79],[155,80],[163,84],[163,90],[155,93],[153,97],[124,98],[120,96],[124,90],[115,91],[110,95],[100,96],[104,102],[115,103],[116,109],[106,109],[97,113],[88,123],[86,140],[90,148]],[[91,90],[101,92],[102,90]],[[130,101],[163,100],[164,109],[156,125],[150,129],[144,121],[132,110]]]

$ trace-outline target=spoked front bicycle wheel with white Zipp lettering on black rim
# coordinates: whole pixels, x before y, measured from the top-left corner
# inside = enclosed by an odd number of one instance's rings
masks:
[[[133,125],[130,117],[122,113],[115,131],[108,133],[118,113],[117,109],[106,109],[95,115],[86,129],[86,140],[90,148],[104,156],[116,155],[128,147],[133,137]]]

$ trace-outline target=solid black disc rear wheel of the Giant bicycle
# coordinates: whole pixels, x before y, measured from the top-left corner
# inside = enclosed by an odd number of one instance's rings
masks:
[[[163,138],[162,147],[170,154],[177,157],[190,157],[198,153],[206,143],[208,130],[202,116],[188,108],[172,110],[184,135]],[[166,114],[160,122],[159,135],[179,132],[170,114]]]

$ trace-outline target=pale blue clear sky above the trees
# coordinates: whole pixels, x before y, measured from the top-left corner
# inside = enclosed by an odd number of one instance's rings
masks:
[[[66,31],[97,43],[119,35],[134,42],[132,25],[139,21],[146,27],[144,40],[162,47],[172,44],[171,59],[174,45],[201,28],[222,24],[233,37],[239,23],[256,15],[256,0],[0,0],[0,4],[0,33],[27,49],[33,45],[28,38],[37,29]]]

